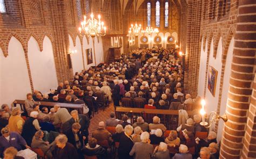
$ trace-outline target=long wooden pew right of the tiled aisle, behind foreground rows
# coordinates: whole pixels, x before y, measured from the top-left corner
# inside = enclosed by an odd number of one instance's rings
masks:
[[[187,111],[188,115],[192,115],[192,111]],[[164,124],[167,129],[170,129],[171,118],[175,116],[176,118],[179,115],[178,110],[158,110],[158,109],[143,109],[143,108],[133,108],[133,107],[116,107],[116,115],[117,117],[121,117],[122,114],[129,114],[131,117],[131,124],[136,121],[138,116],[143,116],[146,122],[152,122],[151,118],[156,115],[161,118],[161,123]],[[147,115],[151,114],[151,115]],[[147,118],[148,117],[148,118]],[[177,122],[178,124],[178,122]],[[177,127],[177,126],[176,126]]]

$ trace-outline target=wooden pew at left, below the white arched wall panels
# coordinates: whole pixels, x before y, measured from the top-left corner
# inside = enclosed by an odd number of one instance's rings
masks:
[[[70,103],[55,103],[55,102],[42,102],[42,101],[36,101],[37,103],[40,103],[40,106],[46,106],[46,107],[53,107],[55,105],[59,105],[60,107],[65,107],[66,109],[76,109],[79,114],[83,114],[83,104],[70,104]],[[14,106],[16,107],[17,104],[21,106],[21,110],[26,112],[25,109],[25,100],[14,100]]]

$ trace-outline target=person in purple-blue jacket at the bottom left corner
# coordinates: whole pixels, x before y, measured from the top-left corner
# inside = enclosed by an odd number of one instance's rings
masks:
[[[1,133],[2,133],[2,136],[0,137],[1,150],[5,150],[6,148],[13,146],[19,151],[19,150],[22,150],[21,145],[23,145],[26,148],[30,148],[21,135],[19,135],[16,132],[11,132],[8,127],[2,128]]]

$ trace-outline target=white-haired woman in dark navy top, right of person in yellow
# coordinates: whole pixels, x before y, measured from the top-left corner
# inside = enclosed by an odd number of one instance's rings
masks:
[[[29,145],[31,144],[32,138],[35,135],[35,133],[41,130],[37,117],[38,117],[38,112],[36,111],[31,112],[30,118],[25,121],[25,124],[23,126],[21,135]]]

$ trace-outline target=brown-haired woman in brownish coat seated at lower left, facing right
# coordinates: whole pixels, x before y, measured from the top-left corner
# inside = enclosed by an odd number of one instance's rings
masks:
[[[50,150],[50,144],[48,141],[44,141],[44,132],[43,131],[37,131],[35,133],[35,136],[33,136],[31,147],[32,148],[39,148],[41,149],[46,156],[49,158],[52,158],[51,150]],[[52,142],[52,144],[55,144],[55,142]]]

